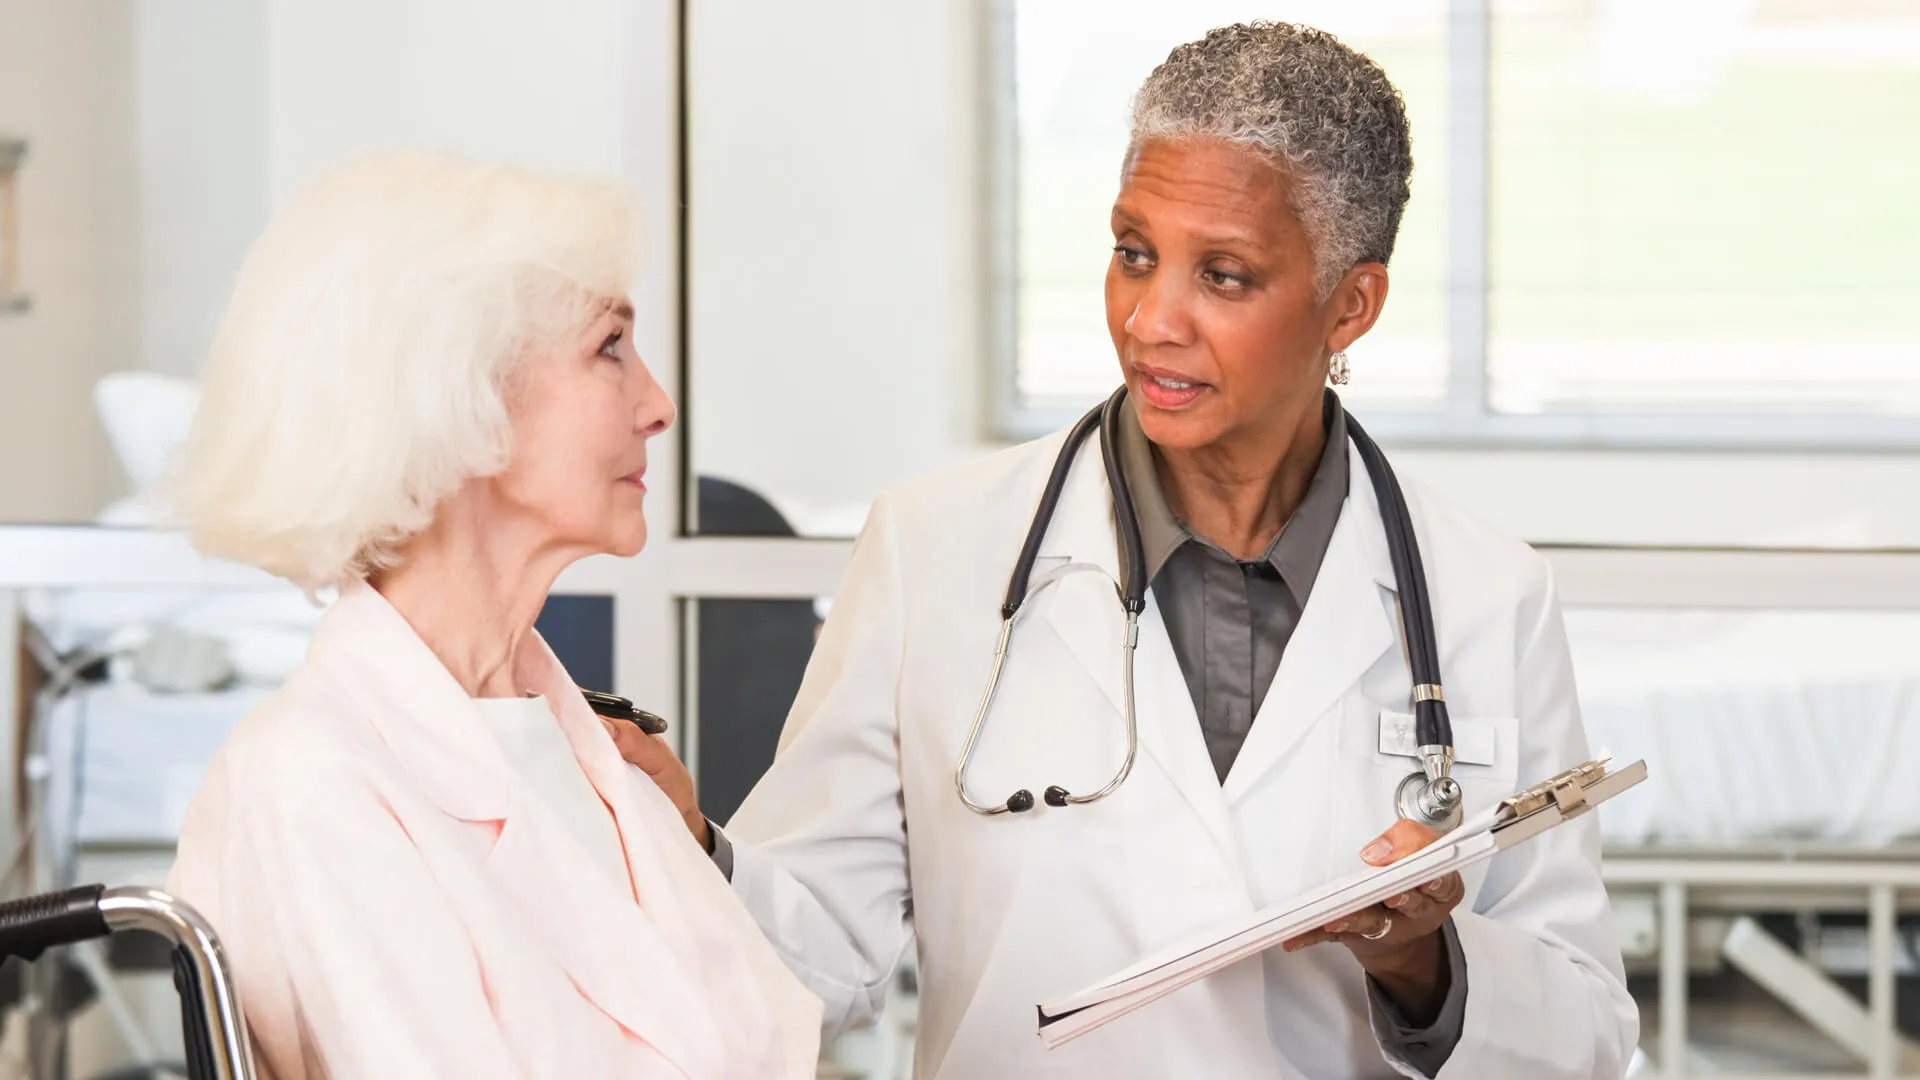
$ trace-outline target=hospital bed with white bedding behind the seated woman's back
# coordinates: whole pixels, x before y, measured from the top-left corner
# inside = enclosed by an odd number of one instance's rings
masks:
[[[0,528],[0,700],[15,701],[4,897],[157,886],[186,801],[246,711],[298,665],[298,590],[138,528]],[[171,1074],[173,961],[152,938],[63,949],[8,1011],[36,1078]],[[132,1068],[134,1072],[129,1072]]]

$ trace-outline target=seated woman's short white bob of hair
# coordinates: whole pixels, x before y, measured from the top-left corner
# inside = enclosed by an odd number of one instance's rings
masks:
[[[173,507],[194,544],[307,592],[396,561],[507,467],[520,361],[630,292],[612,184],[396,152],[301,192],[234,288]]]

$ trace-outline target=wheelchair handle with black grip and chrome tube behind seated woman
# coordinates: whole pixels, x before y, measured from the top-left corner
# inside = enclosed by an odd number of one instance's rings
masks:
[[[0,959],[36,959],[56,945],[146,930],[173,944],[186,1070],[194,1080],[253,1080],[240,992],[213,926],[156,888],[77,886],[0,903]]]

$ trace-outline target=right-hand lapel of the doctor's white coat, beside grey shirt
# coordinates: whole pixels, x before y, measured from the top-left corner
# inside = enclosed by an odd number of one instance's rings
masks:
[[[1359,454],[1350,454],[1350,461],[1346,505],[1313,592],[1227,773],[1229,801],[1244,798],[1382,653],[1398,648],[1394,573],[1380,509]]]

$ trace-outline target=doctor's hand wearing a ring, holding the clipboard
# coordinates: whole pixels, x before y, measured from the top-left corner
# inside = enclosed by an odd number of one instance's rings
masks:
[[[1373,844],[1367,844],[1359,857],[1371,867],[1386,867],[1438,838],[1440,832],[1402,819]],[[1386,903],[1377,903],[1340,922],[1294,938],[1286,942],[1286,951],[1340,942],[1409,1019],[1428,1022],[1440,1013],[1452,984],[1440,928],[1446,926],[1465,896],[1467,884],[1459,874],[1434,878],[1417,890],[1390,897]]]

